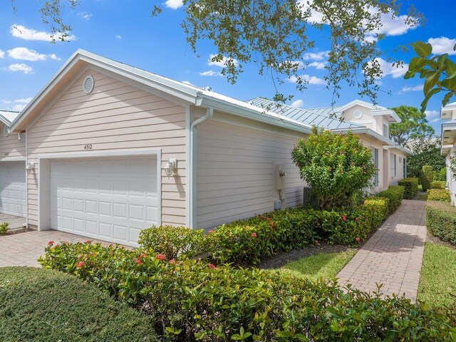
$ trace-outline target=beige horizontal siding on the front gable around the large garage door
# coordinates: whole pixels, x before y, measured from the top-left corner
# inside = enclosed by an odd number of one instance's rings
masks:
[[[82,90],[92,75],[93,92]],[[177,175],[162,171],[162,224],[185,224],[185,108],[96,71],[86,71],[28,128],[29,223],[38,222],[38,155],[93,150],[162,149],[162,167],[177,158]],[[86,151],[90,155],[90,151]]]

